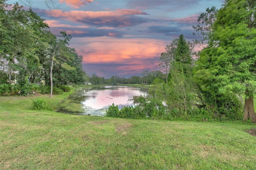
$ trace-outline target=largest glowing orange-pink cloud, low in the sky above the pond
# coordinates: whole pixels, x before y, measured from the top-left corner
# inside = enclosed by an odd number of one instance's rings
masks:
[[[71,40],[72,41],[72,40]],[[117,39],[112,37],[76,38],[73,47],[84,63],[152,63],[165,51],[166,42],[150,38]],[[83,45],[80,45],[83,44]]]

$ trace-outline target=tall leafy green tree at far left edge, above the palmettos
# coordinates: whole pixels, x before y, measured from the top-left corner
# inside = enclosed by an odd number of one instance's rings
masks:
[[[35,22],[31,11],[22,9],[18,3],[15,3],[10,10],[6,9],[8,6],[10,5],[5,1],[0,2],[0,59],[6,59],[8,62],[8,76],[11,83],[13,70],[22,68],[24,71],[30,71],[37,68],[39,60],[35,55],[34,47],[38,38],[35,35],[33,27]],[[30,63],[27,58],[30,58]]]

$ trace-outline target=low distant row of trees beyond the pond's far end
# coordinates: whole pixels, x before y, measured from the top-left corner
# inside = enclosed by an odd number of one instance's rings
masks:
[[[95,84],[151,84],[156,78],[165,80],[165,75],[158,70],[145,70],[141,73],[142,76],[131,76],[129,78],[112,76],[109,79],[99,77],[95,74],[89,76],[89,82]]]

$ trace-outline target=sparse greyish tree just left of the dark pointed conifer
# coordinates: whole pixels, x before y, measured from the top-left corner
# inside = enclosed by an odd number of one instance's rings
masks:
[[[167,76],[170,70],[170,63],[171,63],[171,57],[168,53],[161,53],[161,56],[159,58],[158,66],[161,68],[161,70],[165,73],[166,83],[167,83]]]

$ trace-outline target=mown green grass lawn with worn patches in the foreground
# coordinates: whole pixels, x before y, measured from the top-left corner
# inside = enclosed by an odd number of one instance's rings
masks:
[[[0,169],[256,169],[256,137],[244,132],[253,123],[31,110],[37,97],[0,97]]]

